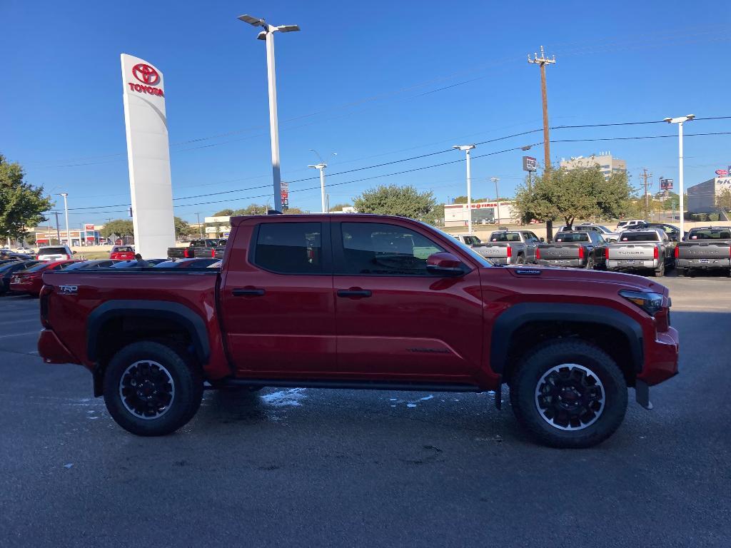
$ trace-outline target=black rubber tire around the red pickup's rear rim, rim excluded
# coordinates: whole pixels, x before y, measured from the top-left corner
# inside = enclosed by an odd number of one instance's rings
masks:
[[[115,422],[133,434],[153,436],[175,432],[186,425],[198,411],[203,397],[200,368],[183,359],[183,352],[153,341],[132,343],[118,351],[110,360],[104,376],[104,401]],[[156,362],[166,370],[173,387],[170,405],[159,416],[141,418],[130,411],[121,395],[125,372],[137,362]]]

